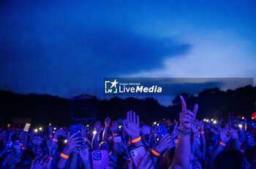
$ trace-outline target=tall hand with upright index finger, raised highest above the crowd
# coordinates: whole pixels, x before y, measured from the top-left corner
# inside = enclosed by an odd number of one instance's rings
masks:
[[[197,114],[198,104],[195,104],[193,112],[187,109],[187,104],[182,96],[181,97],[181,105],[182,111],[180,113],[179,121],[181,123],[182,130],[190,131],[192,127],[192,123]]]

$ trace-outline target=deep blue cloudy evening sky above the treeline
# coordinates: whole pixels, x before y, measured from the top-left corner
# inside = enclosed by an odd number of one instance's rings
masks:
[[[1,1],[0,90],[102,97],[103,77],[255,77],[254,1]]]

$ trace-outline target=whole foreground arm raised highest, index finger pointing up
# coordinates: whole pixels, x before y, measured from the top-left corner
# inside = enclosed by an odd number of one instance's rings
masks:
[[[184,98],[182,96],[181,105],[182,111],[179,117],[179,121],[181,123],[181,135],[178,139],[178,145],[174,154],[173,164],[170,166],[171,169],[189,168],[189,159],[191,152],[190,133],[192,122],[194,121],[197,114],[198,105],[195,104],[193,112],[187,110],[186,102],[184,101]]]

